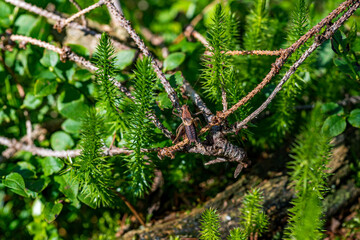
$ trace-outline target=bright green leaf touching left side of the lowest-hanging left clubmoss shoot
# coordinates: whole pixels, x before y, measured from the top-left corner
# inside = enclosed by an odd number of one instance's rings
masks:
[[[54,180],[60,184],[59,190],[71,201],[76,202],[79,192],[79,182],[76,178],[72,178],[71,173],[68,172],[61,176],[55,176]]]

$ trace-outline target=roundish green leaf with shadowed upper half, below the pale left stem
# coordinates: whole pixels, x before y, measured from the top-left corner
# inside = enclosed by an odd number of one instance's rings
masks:
[[[64,91],[57,99],[57,106],[59,112],[64,117],[77,121],[81,121],[88,111],[88,106],[85,104],[84,96],[76,89],[70,87],[64,88]]]

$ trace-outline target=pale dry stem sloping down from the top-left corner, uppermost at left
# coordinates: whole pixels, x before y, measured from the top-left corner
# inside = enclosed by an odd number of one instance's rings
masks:
[[[57,15],[55,13],[52,13],[52,12],[49,12],[49,11],[47,11],[45,9],[34,6],[34,5],[30,4],[30,3],[26,3],[24,1],[5,0],[5,2],[10,3],[10,4],[14,5],[14,6],[17,6],[19,8],[25,9],[25,10],[27,10],[29,12],[35,13],[35,14],[37,14],[39,16],[43,16],[43,17],[45,17],[47,19],[50,19],[50,20],[53,20],[55,22],[65,21],[66,20],[66,18],[63,18],[62,16],[59,16],[59,15]],[[95,31],[93,29],[90,29],[90,28],[88,28],[86,26],[83,26],[83,25],[81,25],[81,24],[79,24],[77,22],[71,22],[68,25],[69,25],[69,27],[80,30],[80,31],[84,32],[85,34],[92,35],[92,36],[94,36],[94,37],[96,37],[98,39],[101,38],[101,33],[97,32],[97,31]],[[111,41],[112,41],[112,43],[114,44],[114,46],[117,49],[130,49],[130,47],[122,44],[120,41],[114,39],[113,37],[111,37]]]

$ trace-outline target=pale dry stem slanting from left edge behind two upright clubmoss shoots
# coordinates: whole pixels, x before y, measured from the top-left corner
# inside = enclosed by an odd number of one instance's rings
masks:
[[[58,54],[60,54],[60,57],[63,60],[69,59],[70,61],[73,61],[75,63],[77,63],[80,66],[83,66],[84,68],[95,72],[98,68],[92,64],[91,62],[87,61],[85,58],[80,57],[79,55],[75,54],[74,52],[72,52],[69,48],[64,47],[64,48],[59,48],[56,47],[50,43],[47,42],[43,42],[40,41],[38,39],[34,39],[31,37],[27,37],[27,36],[22,36],[22,35],[11,35],[10,36],[10,40],[12,41],[20,41],[20,42],[25,42],[25,43],[31,43],[32,45],[36,45],[42,48],[46,48],[50,51],[54,51]],[[128,98],[132,99],[134,101],[134,97],[131,95],[131,92],[125,87],[123,86],[120,82],[118,81],[112,81],[112,83],[121,91],[123,92]],[[160,122],[160,120],[156,117],[156,115],[152,112],[148,113],[147,116],[152,123],[159,128],[163,134],[167,137],[172,139],[173,138],[173,134]]]

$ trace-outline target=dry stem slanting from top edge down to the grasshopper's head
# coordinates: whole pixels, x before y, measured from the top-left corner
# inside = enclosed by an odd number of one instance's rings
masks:
[[[141,40],[139,35],[135,32],[135,30],[130,25],[130,22],[125,19],[124,15],[115,7],[112,0],[104,0],[105,4],[108,6],[109,11],[111,14],[118,20],[120,25],[129,33],[130,37],[134,40],[135,44],[138,46],[140,51],[147,57],[151,58],[152,66],[157,77],[160,79],[161,84],[164,86],[165,91],[167,92],[169,99],[174,106],[174,108],[181,113],[180,109],[180,102],[177,97],[176,92],[170,86],[170,83],[167,81],[164,73],[160,70],[158,63],[156,62],[155,58],[150,53],[149,49],[146,47],[144,42]]]

